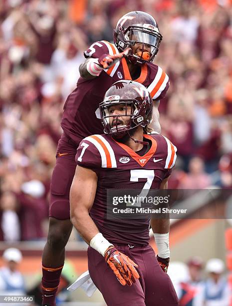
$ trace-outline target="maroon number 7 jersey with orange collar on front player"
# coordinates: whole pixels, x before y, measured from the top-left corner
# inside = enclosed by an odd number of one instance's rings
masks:
[[[144,135],[151,147],[143,156],[109,135],[84,138],[76,162],[98,176],[97,190],[90,216],[99,231],[112,243],[146,245],[149,241],[149,219],[107,218],[107,190],[158,189],[175,164],[177,148],[160,134]]]

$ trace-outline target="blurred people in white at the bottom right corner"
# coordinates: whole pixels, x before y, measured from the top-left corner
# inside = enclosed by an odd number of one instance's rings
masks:
[[[211,258],[204,263],[201,257],[194,256],[187,263],[171,263],[168,273],[180,306],[231,305],[231,284],[222,259]]]

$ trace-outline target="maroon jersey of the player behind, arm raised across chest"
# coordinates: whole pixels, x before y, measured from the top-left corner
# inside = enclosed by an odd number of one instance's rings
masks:
[[[85,57],[99,58],[102,54],[119,53],[117,47],[107,41],[93,43],[85,52]],[[103,133],[99,103],[107,89],[120,79],[131,79],[125,58],[109,69],[104,69],[93,79],[80,77],[76,89],[67,97],[61,127],[77,144],[93,133]],[[146,86],[153,99],[162,99],[169,87],[169,77],[161,67],[146,62],[141,66],[141,74],[135,81]]]

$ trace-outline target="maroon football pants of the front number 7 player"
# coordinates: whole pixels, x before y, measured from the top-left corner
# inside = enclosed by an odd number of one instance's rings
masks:
[[[88,248],[89,274],[101,291],[108,306],[169,306],[178,305],[172,281],[165,273],[154,250],[146,246],[116,245],[117,249],[138,264],[140,278],[130,287],[121,285],[104,257],[92,247]]]

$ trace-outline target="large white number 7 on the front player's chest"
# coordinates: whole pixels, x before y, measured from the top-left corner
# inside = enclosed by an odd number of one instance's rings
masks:
[[[151,188],[154,177],[155,177],[154,170],[145,170],[145,169],[131,170],[130,181],[139,181],[139,178],[147,178],[147,181],[146,181],[145,185],[143,186],[142,191],[138,194],[139,199],[142,199],[143,197],[147,196],[147,194],[148,194],[148,192]],[[142,200],[135,203],[134,206],[141,207],[141,201]]]

